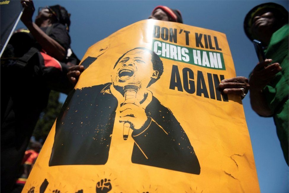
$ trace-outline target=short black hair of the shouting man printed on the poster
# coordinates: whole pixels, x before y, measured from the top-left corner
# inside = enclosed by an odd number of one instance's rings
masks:
[[[147,87],[149,87],[150,85],[152,85],[153,83],[155,83],[160,76],[163,74],[163,61],[160,60],[160,57],[152,50],[149,50],[147,48],[143,48],[143,47],[137,47],[131,50],[136,50],[136,49],[141,49],[141,50],[145,50],[148,53],[150,53],[152,55],[152,69],[158,71],[158,77],[156,79],[151,79],[149,84],[147,85]],[[130,52],[131,50],[127,51],[126,53]],[[118,58],[118,61],[115,63],[113,69],[116,67],[116,65],[118,64],[118,62],[121,60],[121,58],[123,58],[124,55],[126,55],[126,53],[124,53],[120,58]]]

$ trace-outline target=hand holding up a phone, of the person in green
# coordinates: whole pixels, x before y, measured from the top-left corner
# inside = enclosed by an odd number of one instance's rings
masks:
[[[270,64],[271,62],[272,59],[266,59],[263,62],[258,63],[253,69],[249,80],[251,91],[262,90],[275,77],[275,75],[282,70],[279,63]]]

